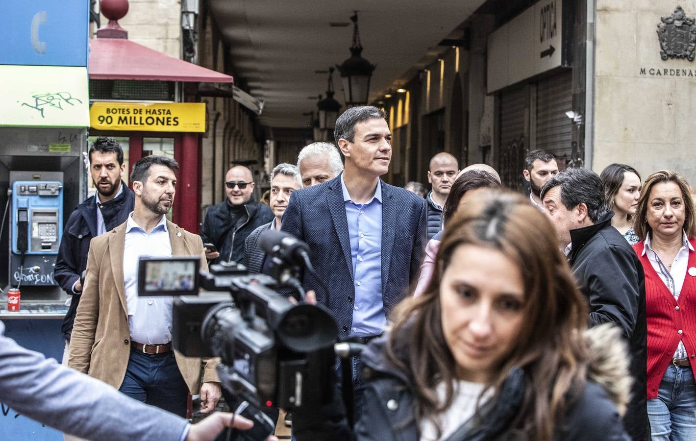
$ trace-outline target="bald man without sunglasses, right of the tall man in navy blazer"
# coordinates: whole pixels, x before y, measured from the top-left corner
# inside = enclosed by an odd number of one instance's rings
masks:
[[[428,240],[442,230],[442,207],[450,194],[454,179],[459,172],[457,158],[447,152],[440,152],[430,159],[428,182],[432,191],[427,194]]]

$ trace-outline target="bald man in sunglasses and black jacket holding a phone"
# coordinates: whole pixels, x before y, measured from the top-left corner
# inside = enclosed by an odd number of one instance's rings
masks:
[[[218,262],[242,262],[244,241],[256,227],[273,220],[273,211],[254,202],[254,182],[251,170],[235,166],[225,175],[223,202],[213,205],[200,227],[203,243],[212,243],[216,249],[205,248],[205,257]]]

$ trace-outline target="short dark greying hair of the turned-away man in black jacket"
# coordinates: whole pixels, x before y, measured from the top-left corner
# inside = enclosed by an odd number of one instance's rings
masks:
[[[587,216],[596,222],[607,214],[604,200],[604,184],[599,175],[587,168],[567,168],[546,181],[541,189],[541,199],[553,187],[560,186],[561,203],[566,209],[574,209],[580,204],[587,205]]]

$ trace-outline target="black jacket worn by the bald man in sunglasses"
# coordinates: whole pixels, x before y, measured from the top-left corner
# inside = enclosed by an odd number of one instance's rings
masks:
[[[205,215],[200,228],[203,243],[212,243],[220,252],[220,257],[211,263],[242,262],[244,258],[244,241],[257,227],[269,223],[275,216],[273,211],[263,204],[254,202],[253,197],[244,205],[244,215],[232,223],[227,200],[213,205]]]

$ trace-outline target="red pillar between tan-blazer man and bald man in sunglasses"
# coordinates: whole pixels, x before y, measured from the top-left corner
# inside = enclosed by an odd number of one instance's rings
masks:
[[[184,230],[197,234],[200,223],[198,134],[181,134],[176,141],[179,142],[175,142],[174,159],[179,163],[180,170],[176,186],[173,220]]]

